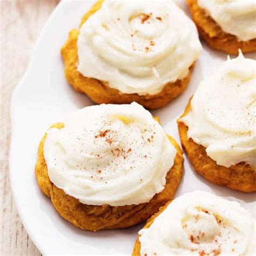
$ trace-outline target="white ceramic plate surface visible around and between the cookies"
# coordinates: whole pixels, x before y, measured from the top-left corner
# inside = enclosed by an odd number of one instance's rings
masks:
[[[183,0],[177,1],[186,12]],[[52,123],[62,120],[70,112],[92,102],[75,92],[66,83],[60,47],[71,28],[77,28],[80,18],[92,1],[63,1],[46,24],[33,52],[31,62],[11,102],[12,139],[10,149],[10,181],[19,216],[42,254],[131,254],[137,233],[142,225],[124,230],[79,230],[62,219],[49,198],[39,190],[34,174],[37,147],[44,132]],[[255,55],[247,55],[254,57]],[[163,109],[153,111],[160,117],[165,130],[178,142],[176,118],[197,87],[198,82],[218,64],[226,60],[225,53],[213,51],[204,45],[194,69],[188,89]],[[255,194],[245,194],[211,184],[194,172],[185,159],[185,172],[176,197],[194,190],[210,191],[224,197],[241,200],[254,213]]]

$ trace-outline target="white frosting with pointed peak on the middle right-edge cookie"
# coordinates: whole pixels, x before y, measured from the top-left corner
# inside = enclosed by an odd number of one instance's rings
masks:
[[[179,119],[188,138],[206,147],[218,165],[256,165],[255,74],[256,61],[240,51],[199,84],[190,111]]]

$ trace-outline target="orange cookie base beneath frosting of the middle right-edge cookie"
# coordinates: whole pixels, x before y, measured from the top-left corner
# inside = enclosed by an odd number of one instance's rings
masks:
[[[190,103],[181,117],[190,111]],[[206,148],[187,137],[188,127],[178,120],[178,130],[185,152],[194,170],[212,183],[226,186],[242,192],[256,191],[256,169],[244,162],[225,167],[217,165],[216,161],[207,156]]]

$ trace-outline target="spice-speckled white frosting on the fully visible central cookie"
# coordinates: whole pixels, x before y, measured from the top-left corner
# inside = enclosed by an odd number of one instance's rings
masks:
[[[50,180],[87,205],[146,203],[163,191],[176,156],[160,124],[137,103],[85,107],[47,132]]]

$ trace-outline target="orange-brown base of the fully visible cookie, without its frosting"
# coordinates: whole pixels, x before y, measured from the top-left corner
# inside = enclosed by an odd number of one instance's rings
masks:
[[[62,129],[63,123],[53,124],[51,127]],[[170,143],[177,149],[174,164],[166,175],[166,185],[162,192],[156,194],[149,203],[126,206],[110,205],[85,205],[78,199],[65,194],[56,187],[48,176],[48,170],[44,159],[44,142],[46,134],[38,147],[38,160],[35,167],[37,183],[42,192],[51,198],[57,212],[73,225],[91,231],[103,229],[125,228],[136,225],[159,210],[159,207],[172,200],[180,183],[183,173],[183,152],[178,143],[169,136]]]

